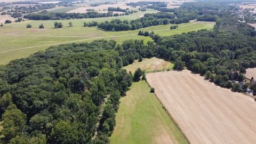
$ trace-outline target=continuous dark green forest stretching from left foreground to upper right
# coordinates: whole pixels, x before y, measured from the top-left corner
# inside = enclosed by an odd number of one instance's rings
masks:
[[[138,70],[133,76],[122,69],[135,59],[162,58],[173,62],[176,70],[187,67],[237,91],[232,81],[243,82],[246,68],[256,67],[256,31],[237,20],[232,12],[236,7],[211,4],[193,2],[174,14],[145,14],[143,21],[105,24],[122,23],[130,29],[132,22],[137,29],[139,22],[143,27],[145,21],[170,23],[175,17],[204,15],[215,18],[213,30],[166,37],[147,31],[153,39],[147,44],[138,39],[122,44],[105,40],[63,44],[0,66],[1,143],[109,143],[119,99],[142,73]],[[121,30],[109,28],[113,29]],[[140,31],[140,35],[145,33]],[[256,86],[251,89],[256,92]]]

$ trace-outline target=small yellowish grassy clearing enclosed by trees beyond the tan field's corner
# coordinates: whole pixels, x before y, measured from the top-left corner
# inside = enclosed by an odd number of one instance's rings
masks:
[[[159,71],[159,70],[172,70],[174,67],[174,64],[165,61],[163,59],[158,58],[150,58],[150,59],[143,59],[141,62],[138,62],[138,60],[135,60],[132,65],[128,65],[123,67],[127,71],[131,71],[134,73],[134,71],[138,68],[141,68],[142,70],[145,70],[146,73]]]

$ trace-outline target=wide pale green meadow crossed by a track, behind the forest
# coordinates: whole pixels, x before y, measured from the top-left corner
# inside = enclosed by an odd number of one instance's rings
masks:
[[[134,13],[129,15],[129,17],[122,16],[115,18],[131,20],[139,18],[140,15],[143,15],[143,13]],[[182,23],[175,30],[169,30],[171,25],[161,25],[129,31],[103,31],[97,29],[97,27],[82,27],[83,22],[102,22],[115,18],[58,20],[58,22],[62,22],[63,24],[63,28],[61,29],[53,29],[53,20],[23,21],[4,25],[4,27],[0,27],[0,43],[2,44],[0,46],[0,65],[6,64],[13,59],[27,57],[39,50],[45,50],[51,45],[72,42],[92,42],[96,39],[114,39],[118,43],[126,39],[143,39],[146,43],[147,41],[151,41],[151,38],[138,36],[139,30],[155,31],[155,34],[167,36],[203,28],[211,29],[214,26],[214,23],[209,22],[190,22]],[[73,27],[67,27],[69,21],[73,22]],[[44,29],[37,28],[41,23],[43,23]],[[26,28],[27,24],[32,25],[32,28]]]

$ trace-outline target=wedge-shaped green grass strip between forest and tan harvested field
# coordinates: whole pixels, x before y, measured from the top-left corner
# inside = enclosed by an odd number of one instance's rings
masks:
[[[110,143],[187,143],[145,81],[133,83],[121,103]]]

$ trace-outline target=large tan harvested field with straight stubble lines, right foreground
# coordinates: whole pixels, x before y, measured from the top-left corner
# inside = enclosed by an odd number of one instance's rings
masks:
[[[256,143],[256,102],[188,70],[147,74],[147,81],[190,143]]]

